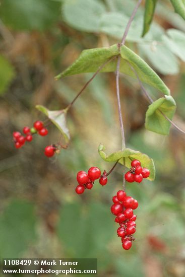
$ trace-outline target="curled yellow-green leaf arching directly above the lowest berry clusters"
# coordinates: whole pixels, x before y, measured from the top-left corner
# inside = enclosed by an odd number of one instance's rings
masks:
[[[139,151],[132,150],[130,148],[126,148],[124,150],[120,150],[109,155],[104,152],[105,147],[100,144],[98,152],[101,158],[105,162],[116,162],[119,161],[120,164],[125,164],[126,167],[131,167],[131,161],[134,159],[138,159],[141,162],[142,167],[146,167],[150,170],[150,176],[148,179],[153,181],[155,179],[155,166],[153,160],[148,157],[146,154],[143,154]]]

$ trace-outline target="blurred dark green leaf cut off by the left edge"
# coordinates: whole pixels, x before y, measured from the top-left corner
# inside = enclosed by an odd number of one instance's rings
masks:
[[[0,55],[0,94],[6,92],[14,77],[14,67],[5,57]]]

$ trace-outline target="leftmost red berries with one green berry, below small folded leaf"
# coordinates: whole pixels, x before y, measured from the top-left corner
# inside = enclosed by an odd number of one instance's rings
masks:
[[[33,140],[33,135],[36,133],[41,136],[47,135],[48,129],[44,126],[44,122],[37,120],[34,122],[32,128],[29,128],[27,126],[24,127],[23,133],[25,134],[25,136],[18,131],[13,132],[13,140],[16,149],[21,148],[25,144],[25,142],[31,142]],[[50,158],[55,154],[55,152],[57,152],[57,150],[58,149],[55,145],[46,146],[44,154],[46,157]]]

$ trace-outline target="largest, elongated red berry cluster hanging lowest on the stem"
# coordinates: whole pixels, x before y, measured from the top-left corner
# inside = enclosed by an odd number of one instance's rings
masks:
[[[138,207],[138,201],[131,196],[127,196],[124,190],[118,190],[117,194],[112,197],[113,205],[111,212],[115,218],[115,222],[119,224],[117,236],[121,237],[122,247],[129,250],[132,241],[135,240],[133,234],[136,232],[136,218],[133,210]]]

